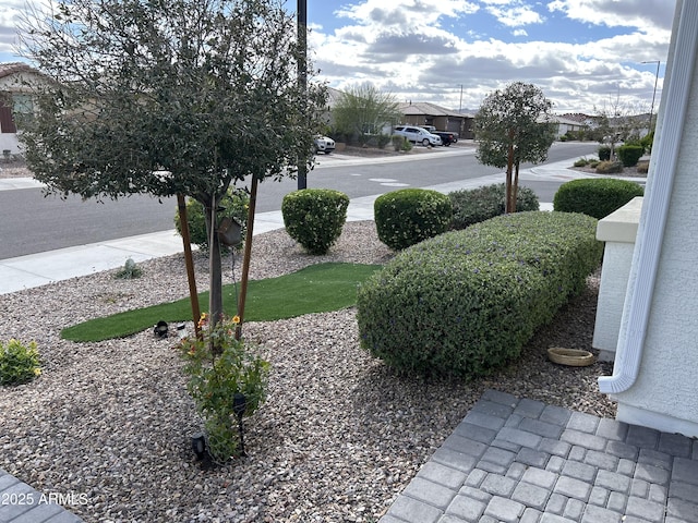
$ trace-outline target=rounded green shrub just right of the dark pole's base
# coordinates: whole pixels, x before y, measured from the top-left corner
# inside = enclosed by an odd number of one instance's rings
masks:
[[[339,191],[293,191],[281,202],[286,232],[310,254],[326,254],[341,235],[348,207],[349,196]]]

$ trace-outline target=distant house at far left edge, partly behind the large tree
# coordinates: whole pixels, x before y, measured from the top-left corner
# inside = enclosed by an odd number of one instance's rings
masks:
[[[0,63],[0,149],[20,153],[14,115],[34,111],[29,83],[40,77],[26,63]]]

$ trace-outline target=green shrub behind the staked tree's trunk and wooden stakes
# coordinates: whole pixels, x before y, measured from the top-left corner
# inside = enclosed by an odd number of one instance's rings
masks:
[[[250,206],[250,195],[242,188],[230,188],[228,194],[220,202],[220,209],[216,212],[216,218],[232,218],[242,226],[242,238],[244,238],[248,222],[248,207]],[[197,245],[203,252],[208,251],[208,233],[206,232],[206,217],[204,206],[196,199],[186,199],[186,223],[189,224],[189,238],[191,243]],[[174,212],[174,228],[181,235],[181,224],[179,210]]]

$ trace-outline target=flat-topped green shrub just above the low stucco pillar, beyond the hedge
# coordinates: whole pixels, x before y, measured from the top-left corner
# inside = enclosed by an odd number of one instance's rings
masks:
[[[553,197],[553,209],[583,212],[601,219],[623,207],[636,196],[642,196],[641,185],[627,180],[592,178],[563,183]]]

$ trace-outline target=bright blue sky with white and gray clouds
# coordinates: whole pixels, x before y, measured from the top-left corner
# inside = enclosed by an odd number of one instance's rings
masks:
[[[0,62],[22,60],[15,27],[27,2],[2,0]],[[649,112],[653,94],[657,111],[675,9],[675,0],[306,2],[309,58],[330,87],[370,83],[399,102],[477,110],[521,81],[554,112],[588,114]]]

